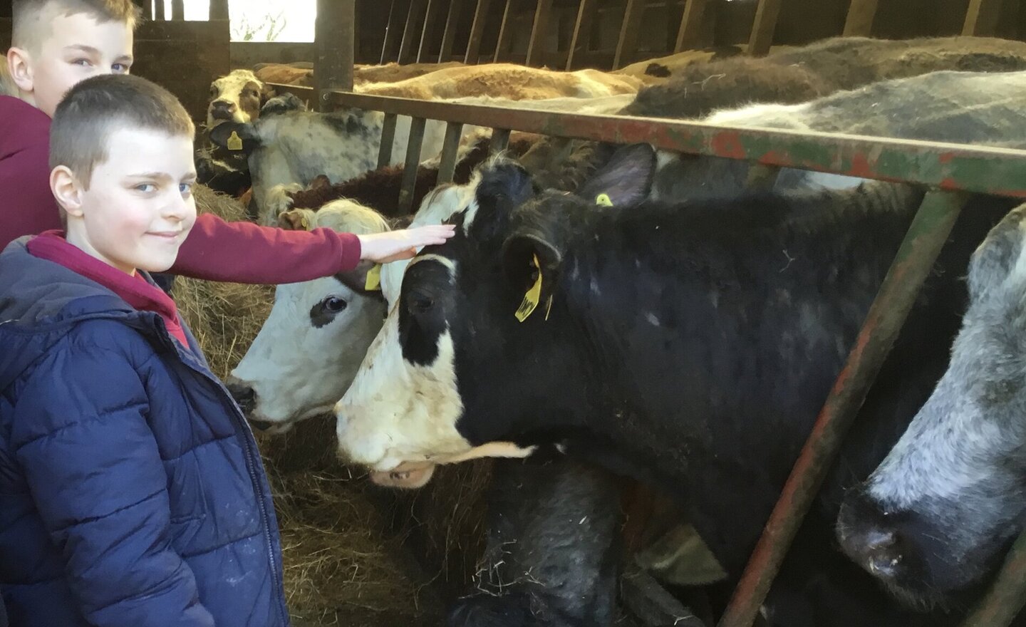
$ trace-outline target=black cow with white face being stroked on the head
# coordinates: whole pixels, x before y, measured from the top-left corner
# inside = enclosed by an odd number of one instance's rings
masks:
[[[640,202],[653,161],[614,158],[576,195],[534,197],[513,162],[482,171],[457,237],[410,262],[336,406],[340,450],[388,471],[555,442],[674,494],[736,581],[921,194],[876,184]],[[596,211],[601,194],[614,206]],[[972,204],[776,581],[771,624],[956,618],[891,602],[832,543],[843,488],[943,373],[958,269],[1010,206]]]

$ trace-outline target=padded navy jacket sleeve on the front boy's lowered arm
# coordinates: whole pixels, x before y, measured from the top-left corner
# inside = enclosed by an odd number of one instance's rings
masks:
[[[170,546],[167,475],[128,355],[65,346],[46,361],[18,397],[11,441],[82,615],[97,627],[212,627]]]

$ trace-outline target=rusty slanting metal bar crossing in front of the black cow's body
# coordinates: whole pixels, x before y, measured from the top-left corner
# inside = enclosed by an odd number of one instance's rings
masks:
[[[939,191],[923,198],[718,627],[749,627],[755,620],[844,434],[947,241],[964,198],[961,193]]]

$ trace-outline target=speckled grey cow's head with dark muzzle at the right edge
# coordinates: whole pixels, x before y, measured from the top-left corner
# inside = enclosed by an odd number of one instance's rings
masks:
[[[948,370],[841,507],[844,551],[913,603],[958,603],[1026,522],[1024,219],[1026,205],[973,256]]]

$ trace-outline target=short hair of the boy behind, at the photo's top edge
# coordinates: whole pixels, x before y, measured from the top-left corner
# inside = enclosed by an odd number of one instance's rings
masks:
[[[132,0],[14,0],[11,45],[34,49],[43,39],[43,28],[49,28],[45,14],[75,15],[85,13],[101,24],[121,22],[129,29],[142,18],[142,9]]]

